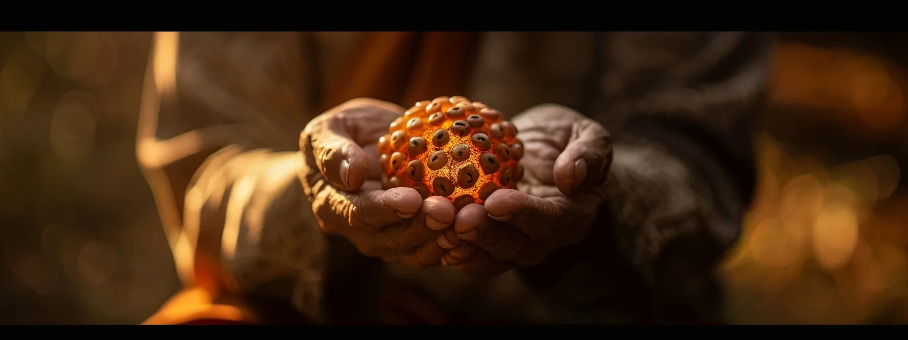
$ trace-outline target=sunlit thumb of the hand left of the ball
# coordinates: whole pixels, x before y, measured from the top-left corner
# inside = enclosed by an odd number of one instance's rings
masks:
[[[339,189],[360,189],[369,175],[368,155],[352,140],[337,115],[311,121],[301,133],[301,143],[307,164],[314,164],[321,176]]]

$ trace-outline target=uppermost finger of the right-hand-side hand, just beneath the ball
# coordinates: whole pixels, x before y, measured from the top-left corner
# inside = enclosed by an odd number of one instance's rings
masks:
[[[520,229],[530,239],[544,238],[565,219],[567,198],[542,199],[515,189],[498,189],[486,199],[489,218]]]

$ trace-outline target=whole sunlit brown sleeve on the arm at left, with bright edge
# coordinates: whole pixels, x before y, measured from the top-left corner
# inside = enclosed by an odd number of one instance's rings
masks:
[[[310,282],[294,291],[297,307],[318,309],[323,239],[297,172],[311,112],[305,42],[154,35],[136,155],[187,286],[242,294],[293,277]]]

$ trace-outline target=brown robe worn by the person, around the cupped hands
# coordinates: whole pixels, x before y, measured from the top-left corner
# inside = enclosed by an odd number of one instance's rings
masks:
[[[713,271],[753,191],[749,127],[770,42],[746,33],[156,34],[137,154],[183,282],[211,292],[193,301],[232,299],[261,322],[291,322],[274,313],[281,307],[311,322],[375,322],[366,306],[382,272],[458,322],[719,322]],[[445,267],[383,271],[321,234],[294,171],[306,122],[354,97],[409,106],[454,94],[508,117],[555,102],[606,126],[615,159],[586,241],[476,281]]]

